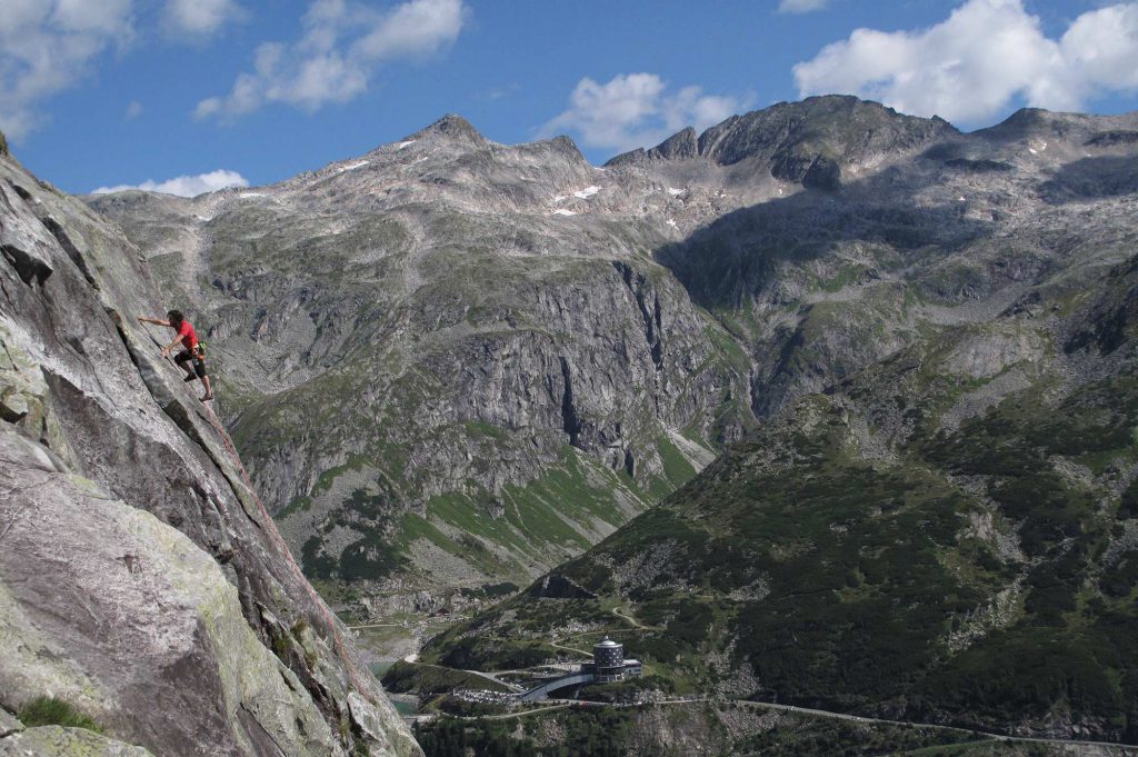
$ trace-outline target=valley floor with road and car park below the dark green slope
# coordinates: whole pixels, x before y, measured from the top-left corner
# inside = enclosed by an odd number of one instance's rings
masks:
[[[612,615],[629,631],[652,630],[637,620],[630,608],[612,608]],[[566,698],[530,705],[503,703],[509,696],[504,691],[519,689],[511,684],[511,676],[525,670],[464,670],[415,661],[423,640],[462,620],[462,617],[403,614],[352,626],[377,675],[385,676],[401,664],[404,675],[410,672],[409,688],[404,688],[405,683],[394,684],[406,693],[393,690],[389,696],[415,729],[427,757],[471,754],[470,749],[486,757],[570,754],[582,757],[688,754],[1138,757],[1138,747],[1132,744],[1009,737],[942,724],[708,697],[702,692],[658,697],[652,701]],[[587,645],[586,639],[563,641]],[[574,656],[587,653],[554,639],[549,647]],[[385,683],[393,685],[391,678]],[[478,686],[484,684],[488,686],[481,690],[485,699],[497,702],[478,701]],[[570,693],[588,696],[587,691]],[[597,737],[597,729],[607,735]],[[686,730],[686,735],[677,735],[677,729]],[[685,751],[687,740],[695,737],[704,742],[703,747]]]

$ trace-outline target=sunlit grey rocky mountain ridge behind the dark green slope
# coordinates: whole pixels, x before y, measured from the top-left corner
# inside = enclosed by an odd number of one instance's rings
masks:
[[[1021,306],[1080,249],[1065,204],[1103,201],[1116,234],[1135,117],[1047,116],[1066,134],[1047,145],[1021,129],[1041,117],[965,134],[814,98],[601,170],[569,140],[500,146],[448,116],[221,201],[91,203],[203,302],[240,377],[226,412],[306,568],[335,578],[351,549],[380,593],[523,584],[685,480],[699,447]],[[323,397],[345,393],[361,411],[332,423]],[[578,499],[599,509],[559,510]]]

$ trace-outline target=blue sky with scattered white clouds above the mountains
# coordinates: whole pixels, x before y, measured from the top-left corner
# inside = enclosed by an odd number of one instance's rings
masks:
[[[567,133],[603,163],[811,93],[962,129],[1023,105],[1138,109],[1132,0],[3,5],[0,127],[71,192],[269,183],[447,113],[500,142]]]

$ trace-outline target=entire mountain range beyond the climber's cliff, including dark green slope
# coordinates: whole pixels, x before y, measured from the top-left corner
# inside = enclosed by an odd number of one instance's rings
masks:
[[[674,686],[1132,742],[1136,192],[1133,114],[824,97],[603,167],[447,116],[88,201],[207,332],[310,576],[539,576],[428,659],[624,608]]]

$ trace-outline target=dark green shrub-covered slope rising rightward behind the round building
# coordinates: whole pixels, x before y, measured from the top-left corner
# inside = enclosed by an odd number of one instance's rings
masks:
[[[1138,742],[1138,258],[1100,283],[1042,357],[968,376],[946,329],[800,400],[431,652],[603,630],[681,690]]]

